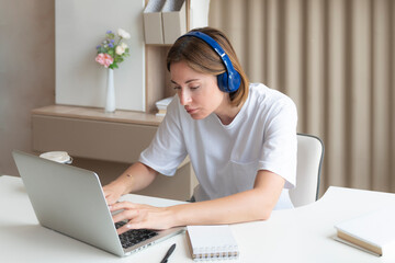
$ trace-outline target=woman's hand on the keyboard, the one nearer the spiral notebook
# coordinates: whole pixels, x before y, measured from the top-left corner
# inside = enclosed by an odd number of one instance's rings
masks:
[[[155,207],[150,205],[120,202],[110,206],[114,222],[127,220],[128,222],[116,231],[119,235],[131,229],[168,229],[173,227],[170,207]]]

